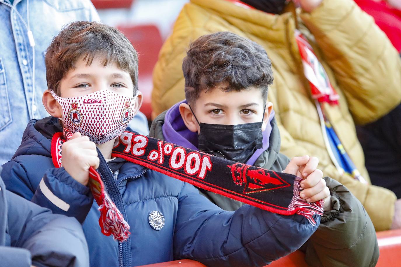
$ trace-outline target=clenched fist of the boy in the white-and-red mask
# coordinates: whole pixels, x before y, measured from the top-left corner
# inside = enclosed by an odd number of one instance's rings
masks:
[[[75,132],[68,142],[63,143],[61,151],[64,169],[76,181],[86,186],[89,181],[89,168],[99,167],[95,143],[89,141],[87,136]]]

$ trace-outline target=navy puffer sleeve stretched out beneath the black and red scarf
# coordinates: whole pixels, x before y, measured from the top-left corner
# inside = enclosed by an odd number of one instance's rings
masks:
[[[300,215],[284,216],[243,205],[223,211],[184,183],[178,196],[174,258],[208,266],[264,266],[296,249],[316,231]]]

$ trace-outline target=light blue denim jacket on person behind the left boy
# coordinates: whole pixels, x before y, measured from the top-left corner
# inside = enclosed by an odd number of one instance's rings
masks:
[[[25,25],[28,23],[27,4],[35,42],[34,94],[33,53]],[[0,166],[11,159],[20,145],[28,121],[49,116],[42,104],[42,94],[47,89],[45,51],[53,37],[69,22],[100,21],[89,0],[29,0],[29,3],[14,0],[13,6],[15,10],[0,2]],[[143,134],[148,133],[148,122],[143,114],[138,114],[130,126]]]

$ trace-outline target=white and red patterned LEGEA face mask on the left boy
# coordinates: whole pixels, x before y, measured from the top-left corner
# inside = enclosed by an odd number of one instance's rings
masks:
[[[53,90],[53,97],[63,108],[63,122],[71,132],[80,132],[96,144],[103,144],[119,137],[134,117],[135,100],[99,90],[77,97],[60,97]]]

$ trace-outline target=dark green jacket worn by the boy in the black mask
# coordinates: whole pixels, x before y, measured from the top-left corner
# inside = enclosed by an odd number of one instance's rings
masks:
[[[162,126],[166,111],[156,117],[150,126],[149,136],[164,140]],[[255,166],[283,171],[290,159],[279,153],[280,132],[271,121],[269,149],[264,151]],[[180,144],[177,144],[180,145]],[[373,223],[362,204],[338,181],[324,177],[330,189],[332,209],[324,212],[318,230],[300,248],[310,266],[375,266],[379,259],[379,246]],[[210,201],[222,209],[233,211],[244,205],[204,189],[199,189]]]

